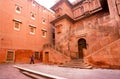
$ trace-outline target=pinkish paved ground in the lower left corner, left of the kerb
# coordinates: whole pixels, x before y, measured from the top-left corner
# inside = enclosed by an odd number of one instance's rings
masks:
[[[16,68],[13,68],[13,64],[0,64],[0,79],[31,79]]]

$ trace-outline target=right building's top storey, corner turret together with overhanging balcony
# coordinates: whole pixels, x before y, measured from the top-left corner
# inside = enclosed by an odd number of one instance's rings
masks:
[[[102,10],[103,0],[80,0],[76,4],[71,4],[68,0],[57,2],[51,9],[55,12],[56,17],[67,14],[74,20],[78,20]]]

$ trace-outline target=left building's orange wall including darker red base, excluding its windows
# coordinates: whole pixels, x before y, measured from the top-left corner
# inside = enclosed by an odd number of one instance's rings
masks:
[[[53,13],[34,0],[5,0],[0,1],[0,62],[5,62],[8,49],[20,50],[15,52],[15,62],[28,62],[33,52],[41,51],[45,43],[52,43],[52,30],[50,20]],[[16,13],[16,5],[21,7],[21,13]],[[4,8],[3,8],[4,7]],[[45,11],[43,11],[45,10]],[[31,19],[31,12],[35,13],[35,20]],[[42,23],[45,18],[45,24]],[[20,30],[14,30],[13,19],[20,20]],[[36,27],[34,35],[30,34],[30,26]],[[46,37],[42,36],[42,29],[46,29]],[[6,49],[4,52],[2,50]],[[26,50],[26,51],[24,51]],[[25,58],[22,58],[25,57]]]

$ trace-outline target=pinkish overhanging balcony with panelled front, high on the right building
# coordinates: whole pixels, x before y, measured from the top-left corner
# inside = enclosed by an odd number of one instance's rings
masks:
[[[86,0],[74,5],[73,15],[74,19],[83,17],[86,14],[92,14],[98,10],[101,10],[100,0]]]

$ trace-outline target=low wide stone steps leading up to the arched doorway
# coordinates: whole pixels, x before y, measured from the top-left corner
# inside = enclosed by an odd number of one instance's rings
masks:
[[[91,69],[93,68],[87,63],[84,63],[83,59],[72,59],[70,62],[60,65],[60,67]]]

